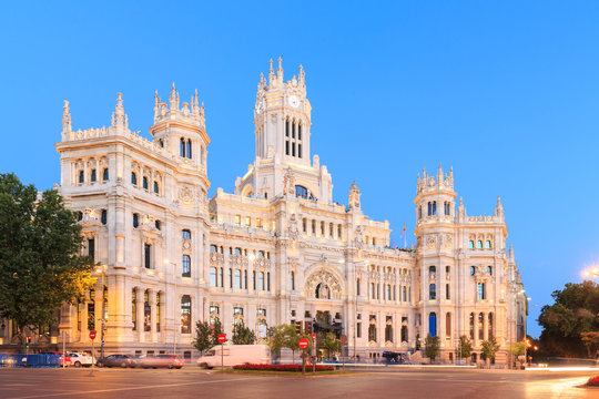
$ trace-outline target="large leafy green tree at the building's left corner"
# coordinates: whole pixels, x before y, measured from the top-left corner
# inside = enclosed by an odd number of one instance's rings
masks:
[[[0,316],[26,328],[55,323],[64,303],[83,300],[93,286],[93,259],[80,254],[81,226],[54,190],[42,193],[0,174]]]

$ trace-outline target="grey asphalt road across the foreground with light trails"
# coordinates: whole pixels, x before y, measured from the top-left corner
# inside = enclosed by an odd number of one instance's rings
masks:
[[[0,398],[598,398],[597,371],[399,370],[315,378],[182,370],[0,369]]]

